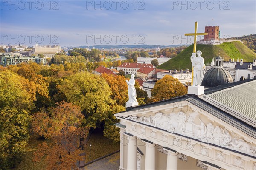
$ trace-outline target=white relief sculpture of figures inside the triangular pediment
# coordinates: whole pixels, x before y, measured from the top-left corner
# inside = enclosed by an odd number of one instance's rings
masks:
[[[197,111],[187,115],[183,111],[177,113],[165,114],[157,112],[149,116],[128,116],[126,119],[140,122],[145,125],[151,125],[170,133],[192,137],[202,142],[216,144],[232,150],[256,156],[256,146],[245,141],[236,133],[230,133],[225,127],[213,125],[212,122],[204,123]],[[195,121],[197,120],[197,121]],[[199,123],[195,123],[199,122]],[[134,129],[134,128],[133,128]],[[155,132],[154,132],[155,133]],[[155,136],[152,134],[151,137]],[[162,134],[162,141],[167,141],[166,136]]]

